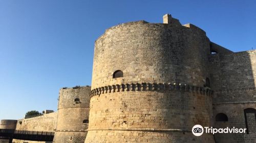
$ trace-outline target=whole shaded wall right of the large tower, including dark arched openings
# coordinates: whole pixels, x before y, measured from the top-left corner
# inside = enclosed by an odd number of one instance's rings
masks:
[[[245,134],[216,134],[216,142],[254,142],[256,51],[211,54],[209,60],[215,127],[247,129]]]

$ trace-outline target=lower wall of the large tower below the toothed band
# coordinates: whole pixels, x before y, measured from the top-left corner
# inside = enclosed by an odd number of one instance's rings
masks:
[[[212,142],[196,137],[196,124],[210,126],[208,95],[180,91],[123,91],[94,96],[86,142]],[[184,135],[185,134],[185,135]]]

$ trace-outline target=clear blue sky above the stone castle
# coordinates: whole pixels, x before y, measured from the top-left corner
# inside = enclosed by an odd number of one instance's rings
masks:
[[[0,119],[56,111],[61,87],[91,85],[105,29],[166,13],[234,52],[256,49],[256,1],[0,0]]]

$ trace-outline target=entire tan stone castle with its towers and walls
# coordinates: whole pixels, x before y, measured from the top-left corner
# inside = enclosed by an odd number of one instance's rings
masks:
[[[62,88],[57,112],[0,128],[54,131],[57,143],[256,142],[255,87],[256,50],[234,53],[166,14],[107,29],[95,42],[91,87]],[[195,136],[197,124],[247,132]]]

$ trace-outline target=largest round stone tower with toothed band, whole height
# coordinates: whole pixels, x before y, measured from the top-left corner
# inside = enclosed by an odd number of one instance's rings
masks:
[[[209,40],[164,15],[164,23],[114,26],[95,42],[85,142],[214,142],[210,126]]]

